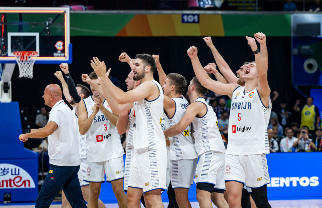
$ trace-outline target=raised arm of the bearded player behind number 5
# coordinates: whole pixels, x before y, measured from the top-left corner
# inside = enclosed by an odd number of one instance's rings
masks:
[[[216,47],[213,45],[211,37],[204,37],[204,41],[207,43],[211,52],[213,53],[213,58],[215,59],[218,69],[223,73],[223,76],[227,79],[229,83],[237,83],[238,78],[235,73],[232,72],[227,62],[223,59],[220,53],[217,51]],[[219,80],[218,80],[219,81]]]

